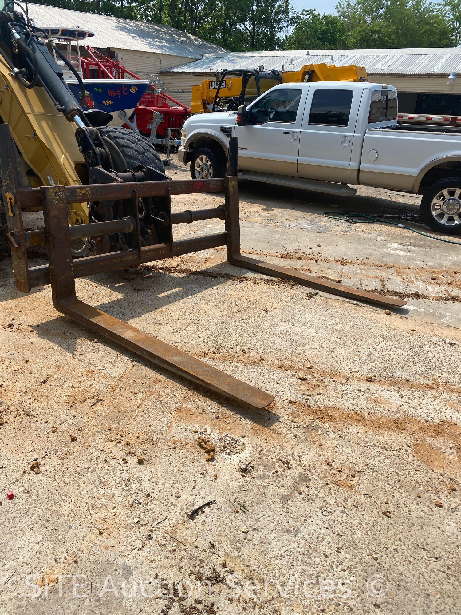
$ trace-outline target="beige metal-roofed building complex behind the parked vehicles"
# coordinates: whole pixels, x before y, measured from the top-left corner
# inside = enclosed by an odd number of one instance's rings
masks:
[[[298,70],[304,64],[326,62],[364,66],[369,81],[395,85],[402,113],[461,116],[461,49],[335,49],[236,52],[157,23],[95,15],[58,7],[28,4],[37,26],[90,30],[88,39],[106,55],[116,55],[140,77],[160,77],[168,92],[190,105],[193,85],[212,78],[221,68]]]

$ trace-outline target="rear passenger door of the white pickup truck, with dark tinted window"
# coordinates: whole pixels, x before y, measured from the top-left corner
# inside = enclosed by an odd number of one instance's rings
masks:
[[[310,86],[299,140],[299,177],[347,183],[363,89]]]

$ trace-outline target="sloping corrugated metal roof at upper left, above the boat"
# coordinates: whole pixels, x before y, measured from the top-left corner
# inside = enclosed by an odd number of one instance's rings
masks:
[[[131,19],[83,13],[42,4],[29,4],[29,16],[37,26],[65,26],[90,30],[95,36],[88,39],[92,47],[101,49],[131,49],[156,54],[200,58],[202,54],[223,52],[211,42],[158,23],[135,22]]]

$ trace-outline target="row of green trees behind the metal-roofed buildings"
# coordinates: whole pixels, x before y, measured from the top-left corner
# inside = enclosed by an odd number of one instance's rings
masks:
[[[230,51],[379,49],[461,44],[461,0],[339,0],[337,14],[290,0],[35,0],[165,23]]]

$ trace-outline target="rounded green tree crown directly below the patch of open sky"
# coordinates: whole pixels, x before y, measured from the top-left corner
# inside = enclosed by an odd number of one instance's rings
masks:
[[[342,49],[345,46],[345,25],[337,15],[321,15],[315,9],[304,9],[293,17],[291,25],[293,30],[283,41],[283,49]]]

